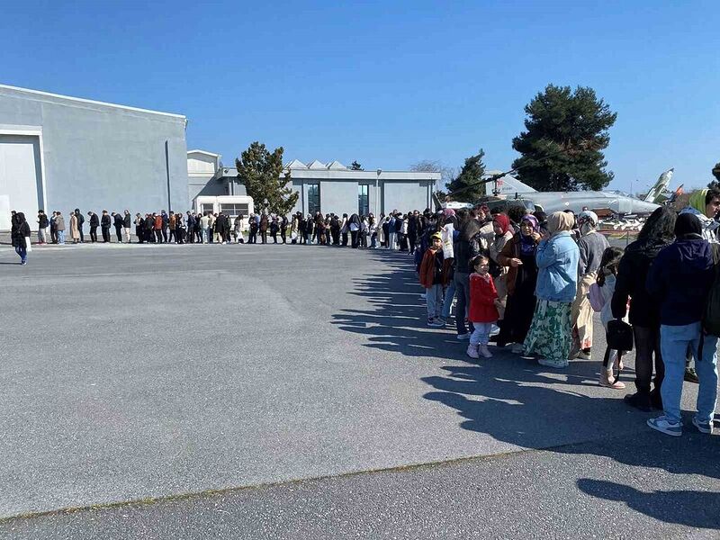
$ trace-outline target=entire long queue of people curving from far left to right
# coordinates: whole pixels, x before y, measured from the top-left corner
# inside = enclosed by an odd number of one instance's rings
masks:
[[[717,338],[706,335],[703,317],[716,280],[720,246],[720,191],[702,190],[680,215],[658,208],[625,251],[599,233],[598,216],[582,211],[545,215],[514,208],[510,214],[476,205],[469,210],[283,215],[251,213],[87,212],[90,241],[163,244],[273,243],[371,247],[414,256],[425,288],[428,326],[444,328],[455,307],[455,331],[467,340],[467,356],[491,358],[496,347],[563,369],[593,354],[593,313],[599,312],[608,347],[599,384],[622,390],[623,354],[635,347],[636,392],[628,405],[662,410],[648,424],[668,435],[682,431],[683,380],[699,383],[693,424],[711,433],[716,406]],[[12,242],[27,262],[31,232],[22,212],[13,212]],[[65,243],[60,211],[38,212],[38,241]],[[85,241],[85,217],[70,212],[70,238]],[[279,241],[278,241],[279,237]],[[715,246],[715,247],[712,247]],[[718,310],[720,311],[720,310]],[[720,324],[720,321],[718,322]],[[624,332],[630,334],[626,346]],[[625,336],[626,338],[627,336]],[[620,345],[617,345],[620,344]],[[597,356],[596,356],[597,357]],[[598,357],[599,358],[599,357]],[[695,361],[695,368],[691,366]]]

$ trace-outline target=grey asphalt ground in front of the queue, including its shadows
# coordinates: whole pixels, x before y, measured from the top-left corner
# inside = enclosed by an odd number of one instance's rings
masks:
[[[409,258],[0,247],[0,536],[716,536],[717,437],[468,362]]]

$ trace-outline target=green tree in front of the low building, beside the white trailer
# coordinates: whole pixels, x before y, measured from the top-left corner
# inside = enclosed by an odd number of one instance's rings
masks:
[[[287,186],[290,171],[283,170],[283,151],[280,147],[271,153],[256,141],[235,160],[238,178],[245,184],[247,195],[253,198],[256,211],[284,215],[298,202],[300,193]]]

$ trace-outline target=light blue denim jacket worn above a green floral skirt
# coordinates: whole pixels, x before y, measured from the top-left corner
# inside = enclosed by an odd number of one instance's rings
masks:
[[[570,232],[563,231],[537,246],[538,300],[570,303],[578,288],[580,250]]]

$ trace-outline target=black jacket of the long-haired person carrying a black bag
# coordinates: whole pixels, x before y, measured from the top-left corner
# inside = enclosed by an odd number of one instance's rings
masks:
[[[648,271],[665,243],[650,243],[635,240],[626,247],[620,265],[617,268],[615,293],[611,303],[613,317],[622,319],[627,313],[628,297],[630,303],[630,324],[648,329],[660,327],[660,305],[645,289]]]

